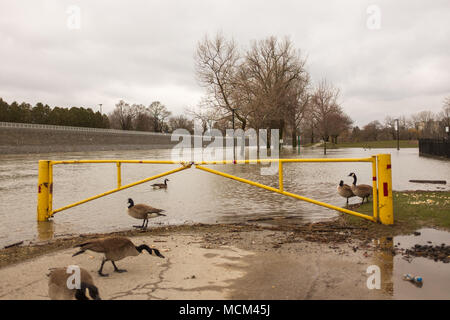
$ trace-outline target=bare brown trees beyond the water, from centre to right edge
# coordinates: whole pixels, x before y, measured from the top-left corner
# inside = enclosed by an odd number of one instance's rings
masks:
[[[285,38],[253,41],[246,50],[222,34],[205,36],[195,52],[196,76],[205,89],[202,102],[189,113],[203,130],[238,128],[280,128],[290,137],[315,143],[331,141],[373,141],[396,139],[396,120],[372,121],[362,128],[339,103],[339,88],[326,79],[312,83],[305,69],[306,59]],[[400,139],[448,137],[450,97],[441,112],[423,111],[399,118]],[[234,116],[234,117],[233,117]],[[286,139],[287,140],[287,139]]]

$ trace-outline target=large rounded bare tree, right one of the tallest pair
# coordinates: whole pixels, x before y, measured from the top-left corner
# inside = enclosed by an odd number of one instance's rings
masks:
[[[241,91],[250,102],[252,126],[261,128],[267,120],[288,119],[296,128],[295,120],[300,121],[298,116],[307,104],[309,75],[304,66],[305,60],[287,38],[253,42],[240,68]]]

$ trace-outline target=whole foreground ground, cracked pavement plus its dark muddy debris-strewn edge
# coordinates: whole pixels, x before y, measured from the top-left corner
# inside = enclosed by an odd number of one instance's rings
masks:
[[[0,299],[48,299],[48,269],[71,264],[91,272],[103,299],[390,299],[389,263],[381,270],[381,288],[367,287],[367,268],[398,254],[373,232],[344,220],[116,232],[108,236],[129,236],[166,259],[146,253],[126,258],[117,262],[128,270],[122,274],[108,262],[107,278],[96,273],[100,255],[72,257],[76,244],[106,235],[68,235],[0,250]]]

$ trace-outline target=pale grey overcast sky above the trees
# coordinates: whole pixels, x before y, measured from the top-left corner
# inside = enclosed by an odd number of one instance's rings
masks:
[[[203,95],[197,42],[217,31],[243,50],[289,36],[356,125],[437,112],[450,95],[448,0],[1,0],[0,97],[104,112],[159,100],[181,114]]]

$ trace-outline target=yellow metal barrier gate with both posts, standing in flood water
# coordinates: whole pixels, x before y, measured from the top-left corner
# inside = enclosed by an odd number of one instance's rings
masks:
[[[249,164],[249,163],[267,163],[278,162],[278,189],[270,187],[258,182],[243,179],[224,173],[218,170],[214,170],[205,165],[215,164]],[[295,193],[287,192],[283,188],[283,165],[287,163],[297,162],[369,162],[372,164],[372,187],[373,187],[373,215],[365,215],[353,210],[337,207],[332,204],[321,202],[318,200],[310,199]],[[100,193],[98,195],[89,197],[87,199],[66,205],[64,207],[53,210],[53,166],[63,164],[83,164],[83,163],[112,163],[117,166],[117,188]],[[139,180],[127,185],[122,185],[121,164],[122,163],[141,163],[141,164],[179,164],[181,167],[162,172],[152,177]],[[145,182],[149,182],[154,179],[158,179],[182,170],[186,170],[195,166],[196,169],[213,173],[228,179],[247,183],[249,185],[262,188],[268,191],[276,192],[284,196],[292,197],[295,199],[307,201],[319,206],[323,206],[329,209],[337,210],[347,214],[351,214],[360,218],[364,218],[373,222],[381,222],[383,224],[394,223],[393,213],[393,200],[392,200],[392,174],[391,174],[391,156],[390,154],[380,154],[372,156],[370,158],[346,158],[346,159],[258,159],[258,160],[224,160],[224,161],[198,161],[198,162],[180,162],[170,160],[68,160],[68,161],[51,161],[40,160],[39,161],[39,178],[38,178],[38,206],[37,206],[37,220],[47,221],[55,213],[63,210],[75,207],[82,203],[98,199],[100,197],[107,196],[114,192],[118,192]]]

